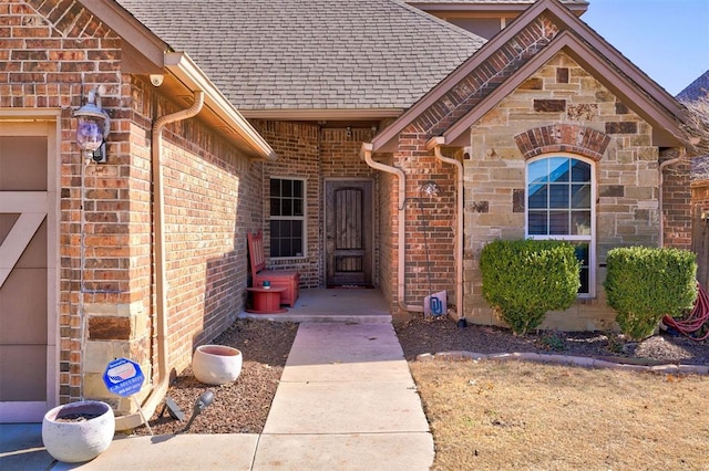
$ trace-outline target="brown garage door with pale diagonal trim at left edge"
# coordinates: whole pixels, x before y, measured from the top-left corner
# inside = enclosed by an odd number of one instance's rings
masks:
[[[56,401],[54,143],[53,123],[0,121],[0,422]]]

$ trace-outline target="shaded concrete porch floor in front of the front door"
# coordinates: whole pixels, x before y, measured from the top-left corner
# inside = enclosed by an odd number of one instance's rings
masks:
[[[391,313],[377,289],[306,289],[294,307],[285,313],[255,314],[243,312],[243,318],[276,322],[348,322],[390,323]]]

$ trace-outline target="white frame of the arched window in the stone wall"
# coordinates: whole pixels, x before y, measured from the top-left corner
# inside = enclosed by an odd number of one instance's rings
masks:
[[[564,234],[530,234],[530,164],[538,160],[563,157],[579,160],[590,165],[590,233],[584,236],[564,236]],[[596,297],[596,166],[597,163],[587,157],[569,153],[549,153],[533,157],[525,161],[524,165],[524,233],[527,239],[536,240],[565,240],[568,242],[587,242],[588,243],[588,293],[578,293],[577,297],[593,299]]]

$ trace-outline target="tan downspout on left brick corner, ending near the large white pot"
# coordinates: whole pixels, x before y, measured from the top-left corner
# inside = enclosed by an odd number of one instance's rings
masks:
[[[143,402],[143,416],[148,420],[153,416],[157,406],[163,401],[167,388],[169,387],[169,368],[167,367],[167,276],[165,274],[165,227],[163,216],[165,202],[163,198],[163,166],[161,163],[163,154],[162,134],[163,128],[183,119],[188,119],[197,115],[204,106],[204,92],[196,91],[194,103],[187,109],[158,117],[153,124],[152,132],[152,174],[153,174],[153,224],[155,230],[155,305],[156,305],[156,343],[157,362],[160,364],[157,385]],[[143,425],[141,414],[121,416],[115,419],[116,430],[134,429]]]

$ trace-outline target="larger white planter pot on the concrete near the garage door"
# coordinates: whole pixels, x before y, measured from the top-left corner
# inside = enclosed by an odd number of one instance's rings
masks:
[[[114,432],[113,409],[97,400],[55,407],[42,420],[47,451],[66,463],[93,460],[109,448]]]

